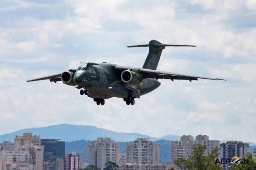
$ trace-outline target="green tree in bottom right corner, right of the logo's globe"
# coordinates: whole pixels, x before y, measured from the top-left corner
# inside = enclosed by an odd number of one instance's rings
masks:
[[[234,165],[230,170],[256,170],[256,159],[252,153],[247,152],[243,159],[248,159],[247,163],[240,163],[239,165]]]

